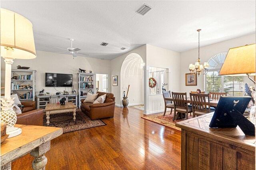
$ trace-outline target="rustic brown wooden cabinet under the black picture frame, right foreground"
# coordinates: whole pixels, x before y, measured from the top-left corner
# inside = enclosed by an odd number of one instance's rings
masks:
[[[209,128],[213,113],[176,123],[182,170],[255,170],[255,136],[239,127]]]

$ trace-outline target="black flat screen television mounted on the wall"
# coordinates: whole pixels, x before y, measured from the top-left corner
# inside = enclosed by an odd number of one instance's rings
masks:
[[[45,87],[72,87],[72,74],[45,73]]]

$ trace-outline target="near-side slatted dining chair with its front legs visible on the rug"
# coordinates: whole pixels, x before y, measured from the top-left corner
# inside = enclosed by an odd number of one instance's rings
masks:
[[[185,113],[186,119],[188,119],[188,113],[192,113],[192,108],[188,107],[187,93],[175,93],[172,92],[172,99],[174,103],[174,115],[173,121],[176,117],[176,112]]]

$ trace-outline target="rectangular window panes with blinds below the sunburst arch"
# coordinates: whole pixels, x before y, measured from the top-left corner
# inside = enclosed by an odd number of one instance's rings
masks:
[[[211,92],[227,92],[228,96],[244,95],[244,77],[243,76],[220,76],[220,70],[210,70],[204,75],[204,90]]]

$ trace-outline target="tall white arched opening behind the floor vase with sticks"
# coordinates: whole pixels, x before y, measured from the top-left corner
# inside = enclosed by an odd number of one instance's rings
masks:
[[[121,99],[128,92],[129,106],[144,105],[144,62],[138,53],[130,53],[124,59],[120,73]],[[142,107],[142,110],[143,107]]]

